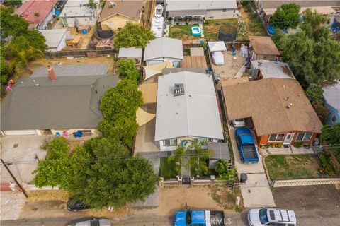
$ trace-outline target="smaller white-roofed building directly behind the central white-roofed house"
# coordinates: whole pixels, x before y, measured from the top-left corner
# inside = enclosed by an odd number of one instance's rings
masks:
[[[152,40],[145,47],[144,61],[147,66],[170,61],[172,66],[181,67],[183,60],[182,40],[169,37],[160,37]]]

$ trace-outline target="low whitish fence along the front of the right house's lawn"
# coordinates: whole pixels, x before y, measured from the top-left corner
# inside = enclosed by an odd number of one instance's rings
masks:
[[[308,186],[320,184],[340,184],[340,178],[318,178],[318,179],[288,179],[273,182],[273,187],[283,186]]]

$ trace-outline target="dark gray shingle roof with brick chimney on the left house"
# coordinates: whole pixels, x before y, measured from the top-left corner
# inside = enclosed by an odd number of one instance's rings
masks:
[[[1,130],[96,128],[99,100],[117,82],[107,75],[21,78],[1,103]]]

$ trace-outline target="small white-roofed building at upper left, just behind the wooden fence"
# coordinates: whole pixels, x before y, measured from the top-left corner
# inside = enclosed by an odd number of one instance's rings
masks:
[[[44,35],[47,51],[61,51],[66,46],[66,29],[40,30]]]

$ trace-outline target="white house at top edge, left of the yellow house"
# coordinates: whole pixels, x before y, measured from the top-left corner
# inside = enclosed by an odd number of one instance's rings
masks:
[[[79,25],[95,25],[101,10],[99,0],[94,0],[98,8],[91,9],[87,4],[89,0],[72,0],[67,1],[60,13],[64,27],[75,27]]]

